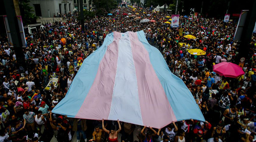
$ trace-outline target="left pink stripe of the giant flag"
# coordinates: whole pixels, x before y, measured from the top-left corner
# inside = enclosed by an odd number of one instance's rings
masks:
[[[114,40],[108,45],[107,51],[98,67],[94,83],[75,118],[108,119],[116,78],[118,43],[120,38],[121,34],[114,32]]]

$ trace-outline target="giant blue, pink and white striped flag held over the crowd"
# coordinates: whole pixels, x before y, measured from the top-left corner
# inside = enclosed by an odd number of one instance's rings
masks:
[[[162,128],[172,121],[205,121],[191,92],[171,73],[144,32],[113,32],[82,63],[53,113]]]

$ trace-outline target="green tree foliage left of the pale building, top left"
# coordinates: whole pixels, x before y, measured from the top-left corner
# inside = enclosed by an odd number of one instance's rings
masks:
[[[36,19],[38,18],[34,13],[32,7],[28,4],[30,0],[19,0],[20,12],[23,21],[23,25],[36,23]]]

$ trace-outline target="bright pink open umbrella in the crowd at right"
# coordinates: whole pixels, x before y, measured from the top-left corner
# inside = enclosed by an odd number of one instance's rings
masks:
[[[221,76],[236,78],[238,76],[244,75],[242,68],[231,62],[221,62],[213,66],[213,71]]]

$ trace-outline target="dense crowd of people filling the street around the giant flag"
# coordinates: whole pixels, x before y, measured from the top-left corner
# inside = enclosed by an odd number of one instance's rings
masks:
[[[10,47],[7,38],[1,39],[0,142],[49,142],[53,137],[58,142],[68,142],[74,133],[77,142],[81,135],[85,142],[118,142],[120,136],[122,142],[254,141],[255,35],[250,43],[254,48],[250,49],[242,67],[245,74],[226,78],[213,72],[213,65],[235,62],[238,58],[238,43],[233,40],[237,23],[180,16],[179,28],[171,28],[165,23],[170,19],[166,12],[120,7],[111,13],[112,16],[86,20],[84,33],[77,20],[78,14],[68,13],[65,22],[47,23],[43,31],[39,29],[27,35],[27,48],[24,49],[27,73],[17,67],[14,48]],[[123,13],[138,13],[140,19],[134,20]],[[155,22],[140,23],[144,18]],[[205,122],[183,120],[154,129],[119,120],[85,120],[52,113],[65,97],[81,64],[101,46],[108,33],[140,30],[145,32],[150,44],[159,48],[170,71],[187,85]],[[188,34],[196,39],[183,37]],[[62,38],[66,39],[65,45]],[[188,53],[190,49],[202,49],[206,54],[194,56]],[[58,78],[57,85],[46,87],[51,78]],[[138,139],[134,140],[133,135]]]

